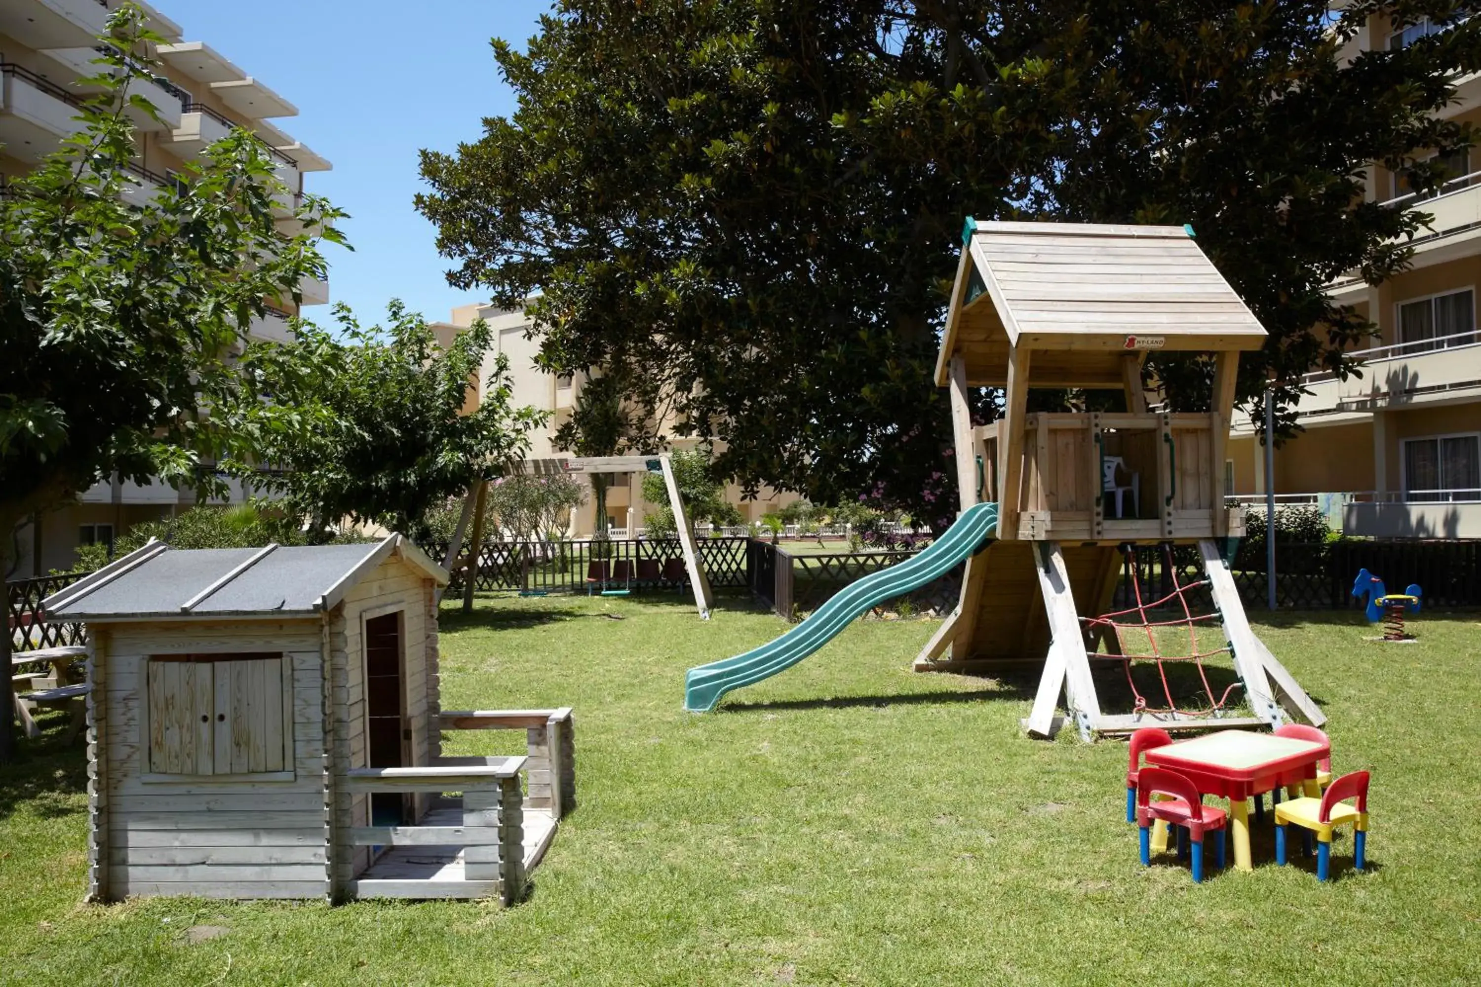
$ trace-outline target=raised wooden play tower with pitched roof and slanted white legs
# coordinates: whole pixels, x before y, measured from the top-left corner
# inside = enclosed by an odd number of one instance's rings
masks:
[[[936,383],[951,391],[961,509],[997,502],[998,522],[967,561],[957,610],[917,667],[1043,660],[1025,721],[1041,737],[1063,722],[1054,715],[1060,691],[1087,738],[1139,727],[1275,727],[1284,716],[1321,724],[1321,710],[1251,632],[1225,562],[1223,549],[1244,533],[1243,509],[1223,497],[1235,376],[1240,351],[1259,349],[1265,329],[1194,231],[967,219],[963,241]],[[1148,408],[1142,363],[1161,349],[1208,354],[1208,411]],[[973,386],[1004,389],[998,422],[972,425]],[[1029,414],[1034,388],[1124,391],[1127,411]],[[1087,619],[1108,613],[1126,545],[1198,546],[1247,709],[1210,691],[1210,707],[1197,712],[1174,703],[1102,710],[1091,663],[1109,624]],[[1208,626],[1206,636],[1216,633]]]

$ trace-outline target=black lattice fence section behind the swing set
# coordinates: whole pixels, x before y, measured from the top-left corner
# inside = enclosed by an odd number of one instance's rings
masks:
[[[432,558],[447,556],[446,543],[424,546]],[[712,589],[745,589],[746,539],[699,539],[699,561]],[[616,571],[618,562],[655,559],[659,568],[683,559],[677,537],[569,542],[484,542],[478,552],[474,587],[480,592],[573,593],[586,592],[588,579]],[[603,565],[604,564],[604,565]],[[647,589],[635,585],[632,589]],[[462,570],[453,571],[449,595],[462,592]]]

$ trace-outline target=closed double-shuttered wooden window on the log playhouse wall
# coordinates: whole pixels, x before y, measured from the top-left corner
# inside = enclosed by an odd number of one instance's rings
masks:
[[[293,769],[292,664],[277,653],[148,661],[151,774]]]

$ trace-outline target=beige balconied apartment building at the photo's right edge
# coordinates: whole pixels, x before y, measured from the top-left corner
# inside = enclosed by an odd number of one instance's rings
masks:
[[[1373,18],[1351,44],[1401,47],[1440,30]],[[1456,96],[1441,115],[1481,123],[1481,74],[1459,80]],[[1481,148],[1445,164],[1453,178],[1431,195],[1383,167],[1368,170],[1368,201],[1429,213],[1432,229],[1416,238],[1404,274],[1379,287],[1357,277],[1331,284],[1380,336],[1354,354],[1361,377],[1306,376],[1306,432],[1275,453],[1274,491],[1283,500],[1327,494],[1320,499],[1346,534],[1481,537]],[[1226,493],[1266,491],[1263,454],[1251,423],[1235,422]]]

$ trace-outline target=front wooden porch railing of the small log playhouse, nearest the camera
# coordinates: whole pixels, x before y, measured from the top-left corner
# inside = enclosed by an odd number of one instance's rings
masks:
[[[352,795],[462,792],[462,826],[357,826],[350,832],[350,842],[354,846],[462,846],[464,883],[498,882],[499,898],[505,904],[520,901],[527,883],[520,771],[527,758],[477,761],[480,764],[425,768],[351,768],[344,786]],[[357,897],[461,897],[459,888],[452,886],[458,882],[354,883]],[[450,886],[432,886],[440,883]]]

